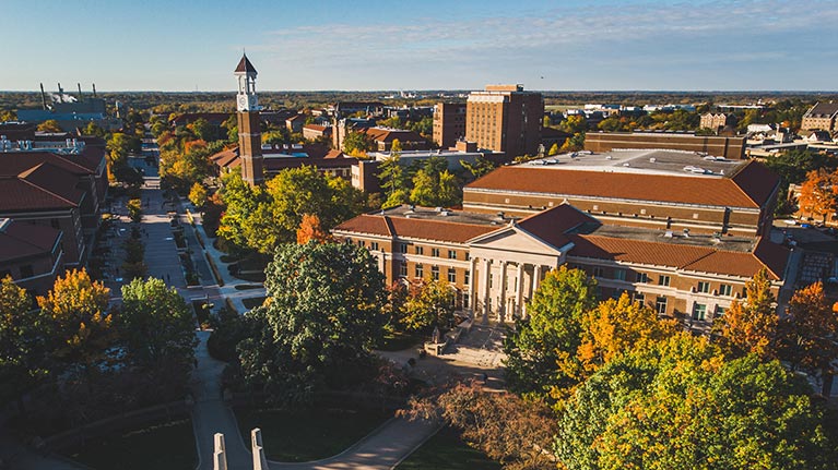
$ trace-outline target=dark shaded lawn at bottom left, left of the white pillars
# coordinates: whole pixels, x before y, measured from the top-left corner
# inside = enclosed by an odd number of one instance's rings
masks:
[[[193,470],[198,465],[188,419],[111,433],[64,456],[95,470]]]

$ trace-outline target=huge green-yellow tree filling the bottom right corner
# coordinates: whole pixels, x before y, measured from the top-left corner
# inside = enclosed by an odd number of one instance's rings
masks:
[[[823,411],[777,362],[725,362],[681,333],[605,364],[560,413],[554,449],[577,469],[827,469]]]

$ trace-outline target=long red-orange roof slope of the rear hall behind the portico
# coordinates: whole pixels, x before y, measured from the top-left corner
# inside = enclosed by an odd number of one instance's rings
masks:
[[[469,190],[660,201],[731,207],[759,207],[777,184],[762,164],[750,162],[734,178],[500,167]]]

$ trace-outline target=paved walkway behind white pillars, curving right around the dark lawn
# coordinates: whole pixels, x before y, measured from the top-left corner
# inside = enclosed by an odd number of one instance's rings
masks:
[[[198,369],[193,372],[192,426],[198,447],[198,470],[212,470],[213,438],[223,433],[229,470],[252,469],[252,456],[241,438],[236,417],[221,395],[221,374],[225,363],[210,357],[208,332],[197,333]],[[323,460],[300,463],[269,462],[275,470],[390,470],[411,455],[439,427],[427,421],[394,418],[343,453]]]

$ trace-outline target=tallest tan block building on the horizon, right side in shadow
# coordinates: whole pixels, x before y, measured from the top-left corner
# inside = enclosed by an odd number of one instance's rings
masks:
[[[544,98],[522,85],[487,85],[467,101],[465,140],[509,157],[535,155],[541,144]]]

